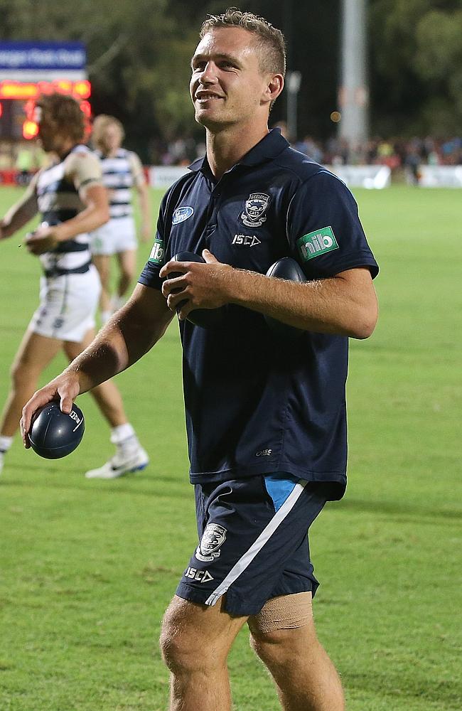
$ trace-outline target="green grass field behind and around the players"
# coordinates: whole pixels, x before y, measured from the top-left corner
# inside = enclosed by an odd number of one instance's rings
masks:
[[[1,188],[0,214],[21,191]],[[154,211],[159,193],[152,193]],[[318,634],[349,711],[456,711],[462,704],[461,196],[356,191],[382,272],[381,316],[352,342],[344,501],[313,525]],[[0,399],[37,302],[38,262],[0,244]],[[139,267],[149,245],[141,245]],[[64,365],[57,359],[43,383]],[[176,324],[117,378],[151,454],[142,474],[87,481],[112,454],[89,395],[86,432],[60,461],[16,439],[0,481],[2,711],[154,711],[168,675],[157,638],[195,545]],[[230,655],[235,708],[278,705],[242,631]]]

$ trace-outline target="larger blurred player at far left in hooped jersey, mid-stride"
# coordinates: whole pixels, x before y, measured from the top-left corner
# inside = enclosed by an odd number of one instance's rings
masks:
[[[43,269],[40,304],[32,316],[11,369],[8,400],[0,418],[0,471],[19,427],[21,408],[38,378],[59,351],[72,361],[95,336],[95,311],[101,285],[91,263],[89,232],[109,218],[101,166],[82,144],[85,119],[72,97],[47,95],[37,102],[38,139],[55,156],[38,171],[23,198],[0,220],[0,240],[11,237],[36,213],[40,227],[26,238]],[[114,479],[148,464],[133,427],[127,422],[119,390],[112,382],[92,391],[111,427],[116,454],[87,478]]]

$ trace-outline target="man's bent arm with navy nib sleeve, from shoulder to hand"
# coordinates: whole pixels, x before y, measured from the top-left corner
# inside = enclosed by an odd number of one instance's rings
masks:
[[[168,307],[175,309],[187,299],[180,311],[180,318],[186,318],[192,309],[237,304],[304,331],[370,336],[377,321],[372,275],[378,267],[345,184],[321,169],[301,183],[287,210],[286,239],[306,282],[233,269],[205,250],[208,264],[169,262],[163,267],[161,277],[185,272],[163,284]]]

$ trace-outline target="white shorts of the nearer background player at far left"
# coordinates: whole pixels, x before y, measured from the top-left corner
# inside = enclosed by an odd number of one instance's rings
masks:
[[[41,277],[40,306],[29,329],[40,336],[81,343],[85,333],[95,328],[100,292],[100,277],[93,264],[85,274]]]

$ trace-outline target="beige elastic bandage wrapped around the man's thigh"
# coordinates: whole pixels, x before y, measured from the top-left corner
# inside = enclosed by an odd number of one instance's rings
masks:
[[[252,633],[262,634],[276,629],[304,627],[311,621],[312,615],[311,592],[296,592],[272,597],[259,614],[249,617],[247,624]]]

